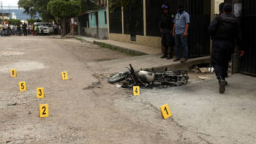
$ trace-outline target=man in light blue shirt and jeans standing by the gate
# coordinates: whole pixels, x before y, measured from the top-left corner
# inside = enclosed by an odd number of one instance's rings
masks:
[[[176,45],[176,58],[173,61],[184,63],[188,60],[188,28],[189,28],[189,14],[184,11],[184,6],[177,7],[177,14],[173,21],[173,36]],[[181,54],[183,48],[183,54]]]

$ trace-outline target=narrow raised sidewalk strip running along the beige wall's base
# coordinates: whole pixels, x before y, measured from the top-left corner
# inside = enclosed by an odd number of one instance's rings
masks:
[[[86,36],[76,36],[77,39],[83,39],[86,42],[100,45],[102,47],[108,47],[109,49],[115,49],[118,51],[129,52],[132,55],[140,56],[145,54],[159,54],[161,49],[155,47],[148,47],[145,45],[130,44],[125,42],[118,42],[115,40],[98,40],[96,38]]]

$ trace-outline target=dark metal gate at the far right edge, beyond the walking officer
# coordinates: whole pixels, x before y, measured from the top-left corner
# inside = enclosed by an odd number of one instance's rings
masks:
[[[241,72],[256,76],[256,1],[243,0],[243,31],[244,56],[241,58]]]

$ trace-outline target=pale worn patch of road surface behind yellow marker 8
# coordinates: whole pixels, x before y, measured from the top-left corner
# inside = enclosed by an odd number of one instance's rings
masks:
[[[10,72],[10,69],[15,68],[19,71],[29,71],[46,68],[44,63],[36,62],[36,61],[26,61],[26,62],[18,62],[18,63],[10,63],[8,65],[3,65],[0,67],[0,72]]]

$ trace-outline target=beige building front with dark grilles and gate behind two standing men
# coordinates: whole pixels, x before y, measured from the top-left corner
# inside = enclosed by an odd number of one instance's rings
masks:
[[[210,36],[205,31],[214,17],[218,1],[211,0],[134,0],[122,7],[116,0],[108,1],[109,39],[132,44],[147,45],[161,49],[159,20],[163,14],[161,5],[170,4],[175,15],[177,6],[184,5],[191,15],[189,28],[189,56],[208,56]]]

